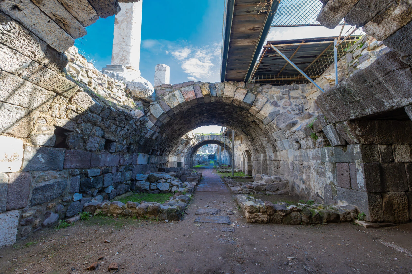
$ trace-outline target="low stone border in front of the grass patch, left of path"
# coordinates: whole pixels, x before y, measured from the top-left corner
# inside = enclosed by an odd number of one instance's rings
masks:
[[[192,194],[181,195],[176,193],[176,196],[171,197],[163,204],[155,202],[141,203],[128,201],[126,204],[120,201],[110,202],[103,201],[103,197],[96,196],[90,203],[83,206],[83,211],[91,214],[103,214],[107,216],[132,216],[132,217],[148,217],[159,220],[178,221],[185,212],[187,203],[192,198]],[[100,199],[100,201],[99,201]]]

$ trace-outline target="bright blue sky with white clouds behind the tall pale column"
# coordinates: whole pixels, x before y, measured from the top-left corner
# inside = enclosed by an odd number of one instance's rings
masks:
[[[153,82],[156,64],[170,66],[171,83],[219,81],[223,0],[143,0],[141,75]],[[114,18],[87,27],[76,46],[95,67],[111,63]]]

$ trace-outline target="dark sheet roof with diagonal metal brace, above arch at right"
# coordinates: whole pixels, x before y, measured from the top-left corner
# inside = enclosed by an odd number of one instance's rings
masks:
[[[334,39],[339,39],[339,37],[267,41],[267,44],[263,47],[259,62],[255,65],[255,71],[252,74],[251,80],[254,83],[279,85],[309,83],[302,74],[286,62],[270,45],[275,46],[314,80],[321,76],[330,64],[334,62],[330,58],[333,55]],[[345,50],[342,47],[344,46],[346,46],[345,43],[338,46],[338,52],[342,53],[338,55],[343,55]]]

